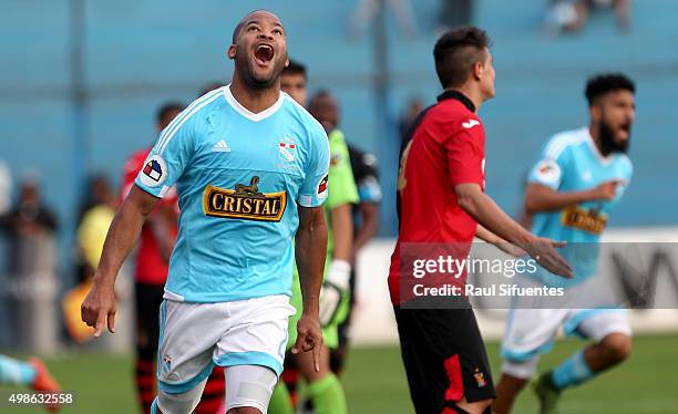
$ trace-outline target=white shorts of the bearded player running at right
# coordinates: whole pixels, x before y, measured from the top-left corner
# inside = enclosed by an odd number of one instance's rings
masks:
[[[568,296],[574,298],[573,304],[583,294],[590,298],[590,294],[584,292],[596,291],[595,286],[598,282],[598,280],[587,280],[567,288]],[[520,283],[522,286],[541,286],[538,282],[531,280],[521,280]],[[631,329],[626,310],[610,308],[609,306],[606,308],[604,303],[610,303],[607,300],[608,296],[606,293],[600,294],[597,303],[599,306],[593,309],[573,309],[569,307],[540,309],[540,303],[536,303],[534,298],[530,299],[530,304],[522,303],[520,299],[516,300],[506,320],[506,332],[502,341],[502,358],[504,361],[514,363],[532,362],[536,366],[534,362],[540,354],[548,352],[553,348],[561,328],[566,335],[574,334],[594,341],[600,341],[610,333],[624,333],[630,337]],[[596,301],[587,301],[587,303],[596,303]]]

